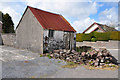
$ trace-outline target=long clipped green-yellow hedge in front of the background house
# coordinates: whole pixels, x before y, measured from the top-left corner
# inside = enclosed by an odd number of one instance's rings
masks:
[[[120,31],[112,32],[92,32],[89,34],[78,33],[76,34],[76,41],[91,41],[95,38],[95,41],[108,41],[108,40],[120,40]]]

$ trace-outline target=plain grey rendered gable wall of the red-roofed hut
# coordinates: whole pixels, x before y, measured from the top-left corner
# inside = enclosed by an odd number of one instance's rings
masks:
[[[43,53],[43,28],[29,8],[16,29],[16,47]]]

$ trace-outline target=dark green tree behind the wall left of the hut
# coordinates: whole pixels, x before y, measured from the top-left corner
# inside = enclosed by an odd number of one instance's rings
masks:
[[[3,29],[4,33],[14,33],[15,32],[14,31],[14,23],[8,13],[3,14],[2,22],[3,22],[2,29]]]

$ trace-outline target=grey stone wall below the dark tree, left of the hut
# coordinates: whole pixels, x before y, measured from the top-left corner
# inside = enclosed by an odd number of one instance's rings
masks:
[[[16,35],[13,34],[1,34],[2,41],[4,45],[15,47]]]

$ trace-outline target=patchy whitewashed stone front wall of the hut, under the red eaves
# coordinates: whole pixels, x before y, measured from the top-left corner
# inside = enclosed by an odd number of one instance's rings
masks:
[[[65,31],[54,31],[53,37],[49,37],[49,30],[44,30],[43,46],[44,51],[53,51],[56,49],[75,48],[75,33]]]

